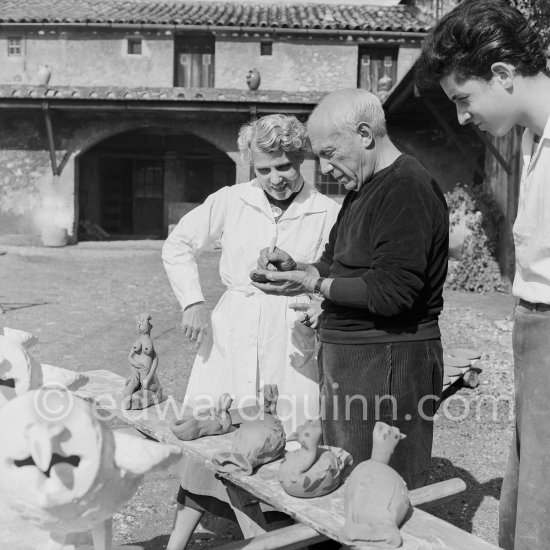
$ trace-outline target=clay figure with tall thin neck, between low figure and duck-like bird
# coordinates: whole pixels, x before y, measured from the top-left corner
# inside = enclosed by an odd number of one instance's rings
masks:
[[[285,431],[281,421],[270,414],[270,411],[276,409],[278,395],[276,386],[264,387],[263,414],[256,420],[240,425],[235,432],[231,452],[223,451],[214,455],[212,462],[218,471],[251,475],[257,466],[283,455]]]

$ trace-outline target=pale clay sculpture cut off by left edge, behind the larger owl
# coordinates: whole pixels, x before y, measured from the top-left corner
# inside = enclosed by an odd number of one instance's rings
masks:
[[[4,327],[0,334],[0,408],[8,401],[42,385],[42,368],[29,354],[36,338]]]

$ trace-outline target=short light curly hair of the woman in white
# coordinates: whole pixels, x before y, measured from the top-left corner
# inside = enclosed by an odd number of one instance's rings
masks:
[[[309,148],[305,126],[290,115],[266,115],[244,124],[239,131],[239,151],[252,164],[252,151],[285,152],[303,158]]]

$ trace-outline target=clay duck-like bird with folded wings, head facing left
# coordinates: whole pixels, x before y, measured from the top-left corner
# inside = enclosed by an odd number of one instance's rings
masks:
[[[287,452],[279,467],[279,481],[293,497],[328,495],[341,485],[344,469],[352,463],[351,455],[343,449],[319,447],[321,435],[321,421],[316,419],[298,426],[287,439],[301,445]]]

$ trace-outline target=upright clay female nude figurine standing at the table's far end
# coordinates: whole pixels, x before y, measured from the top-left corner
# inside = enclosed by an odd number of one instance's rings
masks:
[[[122,406],[125,409],[145,409],[164,399],[157,376],[158,355],[151,339],[151,316],[138,315],[136,327],[139,338],[128,354],[132,374],[124,385]]]

